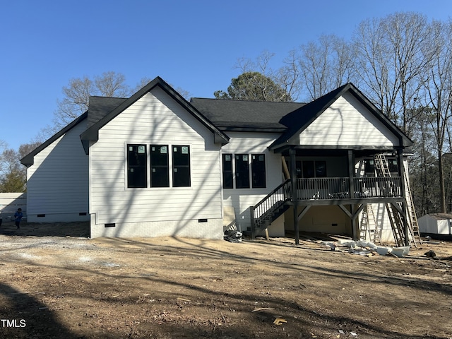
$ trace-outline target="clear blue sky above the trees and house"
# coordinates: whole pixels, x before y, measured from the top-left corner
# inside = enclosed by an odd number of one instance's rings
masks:
[[[278,68],[300,44],[347,39],[362,20],[398,11],[448,20],[452,1],[2,1],[0,140],[17,149],[52,124],[71,78],[115,71],[135,87],[161,76],[213,97],[239,75],[239,58],[272,52]]]

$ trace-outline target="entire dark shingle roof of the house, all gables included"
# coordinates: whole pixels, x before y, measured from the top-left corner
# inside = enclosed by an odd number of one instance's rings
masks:
[[[136,102],[155,86],[160,86],[165,92],[179,102],[196,119],[201,121],[210,131],[214,133],[215,139],[221,143],[229,142],[225,131],[273,131],[282,133],[270,149],[277,150],[287,145],[297,145],[297,136],[320,114],[345,92],[349,91],[359,102],[362,103],[377,119],[395,133],[400,145],[408,146],[412,141],[397,128],[379,109],[377,109],[352,83],[340,86],[330,93],[319,97],[319,99],[304,104],[301,102],[263,102],[263,101],[239,101],[192,98],[187,102],[179,93],[171,88],[162,78],[155,78],[145,85],[141,90],[129,98],[120,97],[90,97],[88,112],[74,120],[71,124],[49,138],[36,150],[25,156],[21,162],[30,166],[33,157],[42,149],[67,131],[87,119],[87,129],[81,134],[81,140],[85,152],[88,153],[88,141],[97,140],[99,129],[108,121],[120,114],[124,109]]]

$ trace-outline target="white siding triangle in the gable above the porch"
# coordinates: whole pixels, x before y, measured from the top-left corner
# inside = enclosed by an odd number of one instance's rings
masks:
[[[398,138],[353,95],[345,93],[299,135],[300,145],[385,146]]]

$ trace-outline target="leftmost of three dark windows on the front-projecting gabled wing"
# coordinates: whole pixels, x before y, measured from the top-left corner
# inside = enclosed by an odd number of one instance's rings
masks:
[[[146,145],[127,145],[127,187],[147,187]]]

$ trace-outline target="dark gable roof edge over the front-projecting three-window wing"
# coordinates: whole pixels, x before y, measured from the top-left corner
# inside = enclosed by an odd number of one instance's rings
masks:
[[[229,137],[220,131],[208,118],[206,118],[201,112],[198,111],[193,105],[191,105],[188,101],[182,97],[179,93],[177,93],[170,85],[168,85],[162,78],[155,78],[153,81],[150,81],[147,85],[145,85],[141,90],[138,90],[134,95],[129,97],[129,99],[124,100],[119,104],[116,108],[114,108],[111,112],[106,114],[100,120],[91,125],[86,131],[81,133],[81,141],[83,143],[83,148],[85,148],[85,153],[88,154],[89,141],[97,141],[99,139],[99,130],[105,126],[109,121],[117,117],[124,109],[131,106],[138,99],[143,97],[150,90],[155,88],[156,86],[162,88],[170,97],[172,97],[175,101],[179,103],[187,112],[193,115],[198,121],[201,122],[204,126],[206,126],[210,131],[214,134],[214,140],[218,143],[228,143]]]

